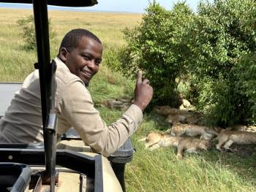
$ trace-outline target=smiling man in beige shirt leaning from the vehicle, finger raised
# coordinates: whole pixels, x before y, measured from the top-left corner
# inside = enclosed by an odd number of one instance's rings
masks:
[[[153,95],[148,80],[142,81],[141,72],[135,88],[135,102],[121,118],[110,126],[94,108],[86,86],[99,70],[102,61],[102,43],[85,29],[69,31],[61,42],[55,59],[56,96],[58,115],[57,133],[64,134],[73,127],[80,137],[97,153],[114,153],[131,136],[142,120]],[[42,142],[42,115],[39,90],[39,72],[35,70],[23,82],[10,107],[0,120],[0,142]]]

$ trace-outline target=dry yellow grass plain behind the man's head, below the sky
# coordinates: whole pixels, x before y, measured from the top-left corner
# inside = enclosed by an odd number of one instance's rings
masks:
[[[23,81],[33,70],[37,61],[34,52],[23,50],[17,20],[32,15],[31,9],[0,8],[0,81]],[[72,28],[87,28],[102,40],[105,50],[125,44],[122,30],[140,23],[140,14],[122,14],[109,12],[71,12],[49,10],[56,41],[52,42],[51,58],[55,58],[61,39]]]

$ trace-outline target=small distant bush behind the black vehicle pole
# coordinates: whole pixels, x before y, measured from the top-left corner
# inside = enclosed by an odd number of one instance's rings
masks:
[[[26,50],[35,50],[37,47],[37,42],[36,42],[36,34],[35,34],[35,29],[34,29],[34,16],[29,15],[26,16],[25,18],[21,18],[20,20],[17,21],[18,26],[21,29],[21,35],[24,39],[25,42],[25,49]],[[50,20],[48,22],[49,26],[49,39],[50,41],[53,41],[56,37],[56,32],[53,31],[52,26],[50,25]]]

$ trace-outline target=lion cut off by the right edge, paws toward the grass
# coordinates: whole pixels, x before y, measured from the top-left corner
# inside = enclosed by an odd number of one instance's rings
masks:
[[[218,140],[218,144],[216,145],[217,150],[222,150],[222,145],[224,145],[225,150],[232,151],[230,146],[233,143],[238,145],[256,144],[256,133],[247,131],[222,131],[214,140],[216,139]]]

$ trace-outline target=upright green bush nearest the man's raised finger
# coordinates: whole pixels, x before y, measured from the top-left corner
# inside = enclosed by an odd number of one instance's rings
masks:
[[[192,16],[184,3],[167,11],[153,1],[140,26],[124,30],[128,46],[118,54],[118,69],[127,76],[141,69],[154,88],[154,104],[177,104],[177,78],[184,71],[187,54],[181,37]]]

